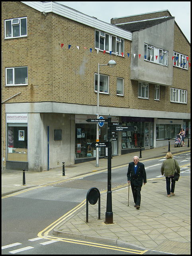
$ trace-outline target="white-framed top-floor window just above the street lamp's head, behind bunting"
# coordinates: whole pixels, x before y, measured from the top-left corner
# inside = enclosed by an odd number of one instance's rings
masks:
[[[98,41],[96,42],[96,36]],[[101,43],[103,42],[103,43]],[[102,47],[104,45],[104,47]],[[95,30],[95,49],[112,52],[112,54],[117,54],[122,56],[121,52],[123,52],[124,56],[124,39],[107,34],[105,32],[101,32],[99,30]]]

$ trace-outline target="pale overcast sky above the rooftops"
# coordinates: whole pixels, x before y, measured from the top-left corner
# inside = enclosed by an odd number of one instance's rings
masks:
[[[63,2],[79,12],[111,23],[111,18],[168,10],[190,42],[190,2]]]

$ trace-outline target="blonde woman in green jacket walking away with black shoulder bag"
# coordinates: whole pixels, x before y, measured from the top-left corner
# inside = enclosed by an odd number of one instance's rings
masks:
[[[174,196],[175,180],[173,179],[173,177],[175,169],[177,170],[178,174],[180,174],[180,167],[178,165],[178,162],[172,158],[171,152],[167,152],[166,160],[163,162],[161,166],[161,174],[165,174],[168,197],[170,197],[170,193],[172,194],[172,196]]]

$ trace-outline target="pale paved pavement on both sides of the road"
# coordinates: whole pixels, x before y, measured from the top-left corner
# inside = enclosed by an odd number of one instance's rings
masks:
[[[140,162],[147,159],[165,157],[168,147],[153,148],[141,152]],[[170,146],[170,152],[174,155],[182,152],[190,152],[190,147],[174,148]],[[133,156],[139,152],[113,156],[112,168],[128,165],[133,161]],[[25,184],[23,185],[23,172],[2,170],[2,198],[26,188],[49,185],[57,181],[67,181],[78,178],[82,174],[92,174],[97,171],[107,171],[107,159],[84,162],[54,168],[43,172],[25,172]],[[186,166],[190,168],[190,164]],[[160,172],[160,167],[159,174]],[[134,254],[148,254],[146,250],[154,254],[190,254],[190,172],[188,176],[180,175],[176,182],[175,196],[167,197],[166,180],[160,178],[148,179],[142,186],[141,206],[137,210],[134,207],[131,186],[128,185],[113,188],[112,186],[112,211],[113,223],[105,224],[106,191],[100,191],[101,218],[98,219],[98,202],[88,204],[88,222],[86,222],[86,202],[80,204],[76,210],[67,215],[52,230],[52,234],[62,238],[75,238],[97,243],[110,243],[116,246],[133,246],[139,250],[133,250]],[[86,199],[86,198],[85,198]]]

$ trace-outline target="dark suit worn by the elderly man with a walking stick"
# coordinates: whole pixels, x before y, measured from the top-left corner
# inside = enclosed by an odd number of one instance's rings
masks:
[[[141,187],[143,183],[147,182],[147,176],[145,172],[144,164],[137,163],[137,172],[135,174],[134,162],[129,163],[127,171],[127,181],[131,181],[131,189],[133,192],[133,199],[137,206],[140,206],[141,203]]]

